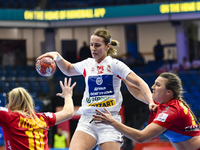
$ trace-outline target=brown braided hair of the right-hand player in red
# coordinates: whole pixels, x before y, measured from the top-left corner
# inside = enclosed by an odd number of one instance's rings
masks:
[[[176,74],[169,73],[169,72],[161,73],[159,76],[167,79],[166,83],[165,83],[166,89],[171,90],[173,92],[174,99],[178,99],[180,102],[183,103],[183,105],[185,105],[189,109],[189,111],[192,114],[192,116],[194,117],[197,125],[200,127],[200,124],[199,124],[196,116],[194,115],[194,113],[192,112],[192,110],[190,109],[190,107],[186,103],[186,101],[183,100],[184,91],[183,91],[181,79]]]

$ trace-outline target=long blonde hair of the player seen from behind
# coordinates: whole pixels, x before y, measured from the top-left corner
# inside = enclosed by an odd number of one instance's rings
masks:
[[[33,98],[26,89],[23,87],[14,88],[7,94],[6,98],[9,110],[18,112],[24,117],[32,119],[38,126],[43,128],[40,119],[35,114]]]

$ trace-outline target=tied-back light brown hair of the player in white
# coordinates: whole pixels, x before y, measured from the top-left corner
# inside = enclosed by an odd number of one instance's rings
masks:
[[[117,40],[113,40],[110,32],[106,29],[96,29],[93,33],[93,35],[102,37],[104,39],[104,43],[105,45],[107,45],[108,43],[110,43],[110,49],[108,50],[107,55],[113,56],[113,55],[117,55],[117,50],[115,48],[113,48],[113,46],[119,46],[119,42]]]

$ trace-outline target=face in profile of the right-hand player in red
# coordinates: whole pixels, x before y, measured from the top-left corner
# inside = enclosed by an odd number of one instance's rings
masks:
[[[167,102],[167,95],[169,90],[166,89],[165,83],[166,83],[167,79],[162,78],[162,77],[158,77],[155,80],[154,85],[151,87],[153,90],[153,100],[155,100],[156,102],[163,104]]]

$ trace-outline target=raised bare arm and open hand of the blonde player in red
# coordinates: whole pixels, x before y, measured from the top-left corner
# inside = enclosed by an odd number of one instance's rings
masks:
[[[74,114],[74,104],[72,100],[73,88],[76,85],[76,82],[71,86],[71,78],[67,82],[67,78],[64,80],[64,84],[60,81],[60,87],[62,89],[62,93],[57,93],[57,96],[64,98],[65,104],[63,109],[59,112],[56,112],[56,124],[66,121],[73,117]]]

